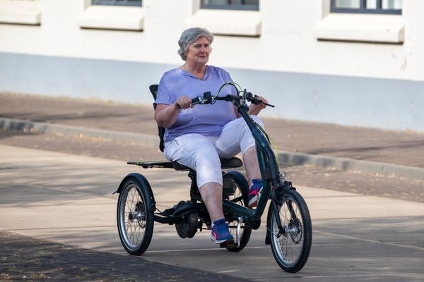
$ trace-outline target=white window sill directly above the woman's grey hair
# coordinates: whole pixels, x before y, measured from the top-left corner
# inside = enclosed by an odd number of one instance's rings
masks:
[[[187,25],[206,27],[214,35],[259,37],[262,20],[259,11],[201,9],[187,20]]]

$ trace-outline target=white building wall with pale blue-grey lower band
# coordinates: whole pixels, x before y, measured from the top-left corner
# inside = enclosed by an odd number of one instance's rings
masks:
[[[218,29],[206,17],[194,17],[197,0],[143,0],[142,8],[25,1],[38,9],[40,25],[0,23],[0,92],[151,103],[148,85],[182,63],[182,30],[194,23]],[[12,2],[17,0],[0,0],[0,21]],[[93,15],[107,15],[102,8],[116,9],[106,23],[143,30],[81,28],[87,18],[100,23]],[[404,0],[401,16],[365,18],[331,18],[329,0],[261,0],[259,9],[212,14],[217,25],[241,34],[259,30],[260,36],[216,35],[209,63],[227,68],[242,87],[277,105],[265,115],[424,131],[424,1]],[[334,32],[404,42],[317,40]]]

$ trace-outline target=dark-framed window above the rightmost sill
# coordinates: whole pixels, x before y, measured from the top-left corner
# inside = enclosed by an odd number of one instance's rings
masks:
[[[402,0],[331,0],[331,13],[401,14]]]

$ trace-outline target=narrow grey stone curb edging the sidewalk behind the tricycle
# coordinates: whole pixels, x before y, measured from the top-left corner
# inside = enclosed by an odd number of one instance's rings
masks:
[[[102,138],[136,144],[158,146],[158,136],[142,133],[128,133],[97,128],[84,128],[73,125],[59,125],[55,123],[41,123],[16,118],[0,118],[0,129],[20,130],[37,134],[60,134],[65,136],[83,135],[86,137]],[[406,178],[408,180],[424,181],[424,168],[402,166],[377,161],[363,161],[341,157],[329,157],[317,154],[293,152],[278,152],[278,160],[283,165],[310,164],[319,168],[336,168],[341,171],[363,171],[387,177]]]

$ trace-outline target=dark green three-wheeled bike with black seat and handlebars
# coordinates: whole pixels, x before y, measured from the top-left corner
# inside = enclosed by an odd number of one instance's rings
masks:
[[[258,229],[261,225],[261,216],[270,200],[266,217],[265,244],[271,245],[273,257],[281,269],[297,272],[307,262],[312,244],[312,223],[307,204],[292,183],[285,180],[285,173],[279,171],[269,136],[248,114],[247,102],[261,103],[261,100],[246,90],[240,90],[234,82],[225,85],[236,87],[238,94],[219,96],[218,92],[213,96],[210,92],[206,92],[203,96],[194,98],[192,104],[214,104],[218,100],[223,100],[237,107],[256,141],[263,190],[256,209],[249,209],[247,179],[235,170],[243,165],[242,161],[237,157],[221,159],[223,211],[230,232],[235,238],[233,243],[222,247],[230,252],[242,250],[249,242],[252,230]],[[150,90],[155,98],[158,85],[151,85]],[[158,130],[160,149],[163,151],[165,129],[158,128]],[[192,238],[197,231],[211,229],[211,219],[196,185],[196,171],[175,161],[129,161],[128,164],[142,168],[186,171],[191,185],[189,200],[180,200],[173,207],[159,211],[155,207],[153,190],[146,177],[140,173],[129,173],[125,176],[116,192],[119,193],[117,227],[126,252],[131,255],[142,255],[147,250],[151,243],[154,222],[175,225],[181,238]]]

